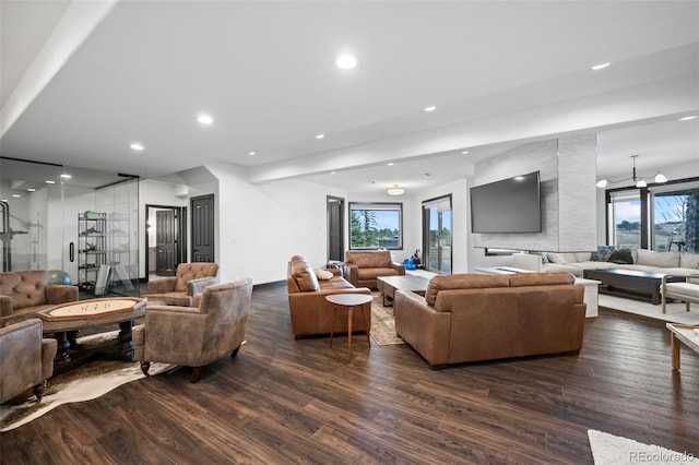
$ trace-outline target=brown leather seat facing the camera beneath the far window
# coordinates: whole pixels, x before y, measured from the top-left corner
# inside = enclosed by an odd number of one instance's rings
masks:
[[[376,289],[379,276],[403,276],[405,266],[391,260],[388,250],[348,250],[344,264],[345,277],[355,287]]]

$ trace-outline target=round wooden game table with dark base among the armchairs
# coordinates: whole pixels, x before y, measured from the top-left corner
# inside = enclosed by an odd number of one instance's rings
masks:
[[[139,297],[108,297],[60,303],[38,311],[44,334],[51,333],[58,342],[54,371],[61,373],[95,358],[133,361],[131,332],[133,320],[145,314],[145,299]],[[85,349],[74,341],[80,330],[118,324],[115,339]]]

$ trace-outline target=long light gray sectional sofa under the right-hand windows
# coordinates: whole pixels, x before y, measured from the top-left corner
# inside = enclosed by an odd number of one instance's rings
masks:
[[[544,263],[542,253],[546,254]],[[633,263],[613,263],[592,260],[593,252],[538,252],[513,253],[512,266],[534,272],[569,272],[582,277],[585,270],[620,269],[647,273],[662,273],[673,276],[687,276],[699,272],[699,254],[688,252],[655,252],[652,250],[631,250]]]

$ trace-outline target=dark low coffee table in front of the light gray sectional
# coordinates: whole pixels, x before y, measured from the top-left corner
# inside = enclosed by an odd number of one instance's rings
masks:
[[[641,297],[653,305],[660,305],[660,285],[663,281],[662,273],[645,273],[633,270],[585,270],[587,279],[602,282],[600,293],[618,295],[620,297]],[[680,276],[667,276],[668,283],[685,281]]]

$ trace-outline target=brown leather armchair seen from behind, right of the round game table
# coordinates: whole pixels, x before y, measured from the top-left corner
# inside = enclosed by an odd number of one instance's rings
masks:
[[[194,296],[196,307],[152,306],[145,321],[133,329],[135,359],[149,374],[151,361],[193,367],[190,382],[199,381],[201,367],[232,353],[245,339],[252,279],[209,286]]]

